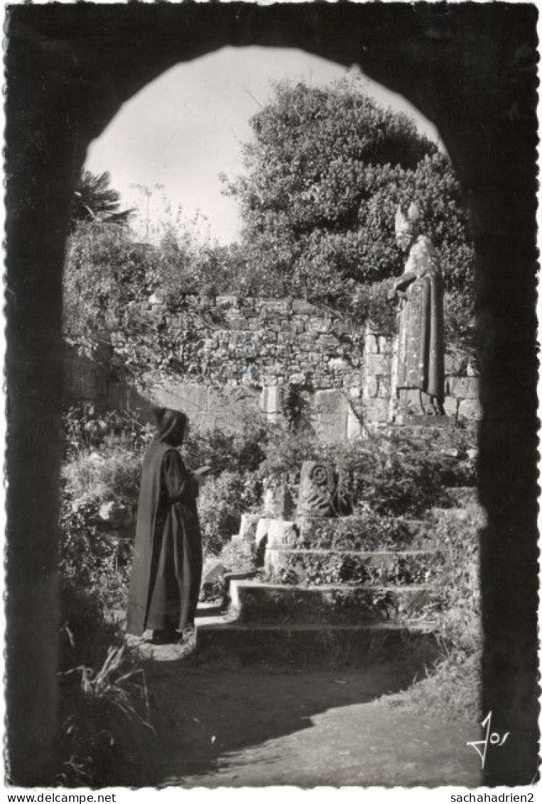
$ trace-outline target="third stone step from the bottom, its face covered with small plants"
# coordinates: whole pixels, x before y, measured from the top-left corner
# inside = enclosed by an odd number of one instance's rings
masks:
[[[418,585],[433,577],[434,550],[323,550],[274,545],[265,551],[269,582],[290,585]]]

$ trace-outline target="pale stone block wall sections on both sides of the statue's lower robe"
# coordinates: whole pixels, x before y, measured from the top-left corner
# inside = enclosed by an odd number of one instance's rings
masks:
[[[383,335],[370,327],[365,330],[363,363],[363,422],[384,425],[392,416],[392,388],[395,336]],[[478,376],[466,360],[445,358],[445,400],[447,416],[479,419]]]

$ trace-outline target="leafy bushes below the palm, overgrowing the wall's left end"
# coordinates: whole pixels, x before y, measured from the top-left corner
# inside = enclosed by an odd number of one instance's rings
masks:
[[[117,365],[134,378],[175,373],[175,313],[185,309],[187,293],[230,289],[236,260],[236,248],[200,237],[190,222],[166,228],[154,245],[138,242],[123,227],[80,221],[68,240],[64,266],[64,334],[109,344]],[[158,318],[145,313],[153,295],[162,302]]]

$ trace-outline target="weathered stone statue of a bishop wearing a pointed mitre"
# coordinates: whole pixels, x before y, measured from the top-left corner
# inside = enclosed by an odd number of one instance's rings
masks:
[[[394,283],[398,303],[397,412],[444,414],[444,288],[437,253],[420,232],[420,211],[396,213],[397,245],[408,252]]]

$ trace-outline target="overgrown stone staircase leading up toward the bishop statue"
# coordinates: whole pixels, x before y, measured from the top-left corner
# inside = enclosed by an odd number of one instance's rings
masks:
[[[430,441],[437,428],[453,426],[448,417],[411,416],[390,430]],[[461,507],[475,494],[465,488],[453,496]],[[228,610],[196,621],[197,652],[211,661],[228,655],[245,667],[394,665],[412,679],[439,653],[436,551],[424,523],[417,525],[416,549],[356,551],[311,547],[303,516],[244,516],[233,539],[252,542],[264,570],[231,577]]]

